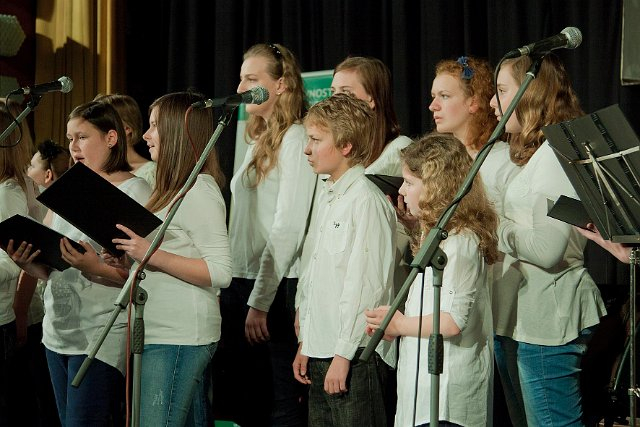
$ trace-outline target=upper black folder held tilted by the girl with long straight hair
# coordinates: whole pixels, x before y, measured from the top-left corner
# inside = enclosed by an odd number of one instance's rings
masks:
[[[37,199],[115,256],[124,252],[111,241],[127,238],[122,224],[146,237],[162,221],[115,185],[76,163]]]

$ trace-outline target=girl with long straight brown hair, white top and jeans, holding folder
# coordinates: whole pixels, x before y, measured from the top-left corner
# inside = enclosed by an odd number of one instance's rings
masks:
[[[220,339],[217,292],[231,281],[226,208],[220,186],[224,176],[215,151],[195,183],[180,192],[215,130],[212,109],[194,109],[200,95],[164,95],[150,107],[144,139],[157,162],[156,185],[147,209],[164,220],[182,197],[160,248],[149,259],[141,286],[144,309],[140,422],[142,426],[207,425],[203,384]],[[139,262],[150,241],[118,225],[129,239],[114,239],[118,249]],[[132,266],[135,269],[137,263]]]

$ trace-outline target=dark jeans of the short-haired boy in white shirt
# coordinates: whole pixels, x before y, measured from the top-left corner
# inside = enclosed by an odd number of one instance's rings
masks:
[[[309,427],[387,425],[384,390],[388,367],[377,353],[366,362],[359,359],[361,353],[359,349],[351,361],[348,391],[342,394],[324,391],[324,378],[333,359],[309,359]]]

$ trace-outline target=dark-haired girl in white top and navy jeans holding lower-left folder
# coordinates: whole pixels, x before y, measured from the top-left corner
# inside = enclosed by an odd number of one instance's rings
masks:
[[[110,105],[89,102],[69,115],[67,138],[74,163],[83,163],[139,203],[151,193],[149,185],[129,171],[125,131]],[[100,195],[96,195],[100,197]],[[91,203],[90,200],[86,203]],[[98,256],[100,247],[84,232],[53,214],[51,228],[78,241],[80,253],[67,239],[60,244],[62,258],[71,268],[49,271],[33,261],[39,254],[28,242],[8,252],[28,273],[47,280],[44,294],[43,339],[62,425],[120,425],[126,366],[126,315],[122,313],[79,387],[72,387],[87,347],[113,311],[127,271],[109,266]],[[17,243],[17,242],[16,242]],[[32,250],[35,249],[35,252]],[[110,421],[111,420],[111,421]]]

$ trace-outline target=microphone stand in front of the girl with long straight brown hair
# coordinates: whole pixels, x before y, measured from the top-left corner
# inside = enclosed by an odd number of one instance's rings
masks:
[[[198,159],[198,162],[196,163],[195,167],[191,171],[191,174],[187,178],[187,181],[185,182],[182,189],[178,193],[179,195],[184,196],[187,193],[187,191],[193,186],[193,183],[198,177],[198,174],[200,173],[202,166],[206,162],[207,157],[209,156],[209,153],[211,152],[211,150],[213,150],[215,143],[218,141],[220,134],[222,133],[224,128],[229,125],[229,122],[231,121],[231,116],[233,115],[233,112],[235,111],[235,109],[236,107],[234,106],[231,109],[225,110],[224,114],[218,120],[218,126],[213,132],[213,135],[211,135],[209,142],[204,148],[204,151],[202,152],[200,159]],[[151,257],[151,254],[153,254],[156,251],[156,249],[160,246],[160,243],[162,242],[162,239],[164,237],[164,233],[169,227],[169,224],[171,223],[171,220],[175,216],[176,212],[178,211],[178,208],[182,204],[183,199],[184,197],[179,197],[169,209],[166,219],[160,226],[158,233],[156,234],[155,238],[151,242],[151,245],[149,246],[149,249],[147,249],[147,253],[145,254],[142,261],[140,262],[138,268],[135,270],[135,272],[139,272],[139,273],[129,275],[129,278],[127,279],[126,283],[122,287],[122,290],[120,291],[120,294],[118,295],[118,298],[114,303],[116,307],[111,312],[111,317],[103,327],[100,333],[100,336],[92,344],[91,349],[87,354],[87,357],[82,362],[82,365],[78,370],[78,373],[76,374],[76,376],[74,377],[71,383],[71,385],[73,385],[74,387],[78,387],[82,382],[87,372],[87,369],[89,369],[91,362],[93,361],[96,354],[98,353],[98,350],[100,350],[102,343],[106,339],[118,315],[120,314],[121,311],[127,308],[127,305],[129,302],[130,289],[133,289],[135,291],[135,297],[133,301],[134,301],[135,312],[136,312],[133,333],[132,333],[133,335],[133,345],[132,345],[133,396],[132,396],[132,403],[131,403],[131,406],[132,406],[131,421],[132,421],[133,427],[138,427],[140,425],[140,391],[141,391],[140,383],[141,383],[142,351],[144,348],[144,320],[142,319],[142,314],[144,310],[144,303],[147,300],[147,293],[144,289],[138,286],[138,282],[144,279],[145,273],[143,269],[146,266],[149,258]]]

